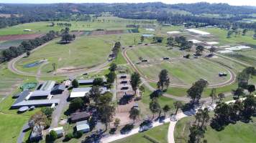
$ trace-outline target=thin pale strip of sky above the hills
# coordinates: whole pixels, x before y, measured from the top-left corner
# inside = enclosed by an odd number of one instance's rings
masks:
[[[256,0],[0,0],[0,3],[32,3],[32,4],[50,4],[50,3],[140,3],[161,1],[165,4],[195,3],[206,1],[209,3],[227,3],[235,6],[256,6]]]

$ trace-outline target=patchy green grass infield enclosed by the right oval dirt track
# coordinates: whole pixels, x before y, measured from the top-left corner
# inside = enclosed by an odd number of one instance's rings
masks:
[[[170,74],[171,83],[191,85],[198,79],[206,79],[209,84],[226,82],[227,77],[219,77],[219,72],[227,72],[226,69],[203,58],[184,59],[180,57],[183,51],[177,49],[167,50],[162,46],[146,46],[139,49],[127,51],[128,56],[134,63],[139,61],[139,57],[149,60],[144,64],[136,64],[137,68],[150,79],[158,79],[158,74],[162,69],[167,69]],[[145,56],[146,55],[146,56]],[[163,61],[163,57],[170,57],[170,60]]]

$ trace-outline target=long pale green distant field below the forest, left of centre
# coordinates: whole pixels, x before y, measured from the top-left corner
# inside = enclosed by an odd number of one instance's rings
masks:
[[[96,29],[131,29],[127,28],[127,24],[134,24],[134,22],[137,22],[137,24],[143,24],[140,23],[140,21],[143,20],[120,19],[111,16],[99,17],[99,19],[96,19],[95,21],[54,21],[55,26],[50,26],[50,21],[42,21],[28,24],[19,24],[17,26],[0,29],[0,35],[47,33],[50,30],[60,31],[61,29],[65,28],[65,26],[57,26],[57,23],[71,24],[70,31],[91,31]],[[31,29],[32,31],[24,31],[24,29]]]

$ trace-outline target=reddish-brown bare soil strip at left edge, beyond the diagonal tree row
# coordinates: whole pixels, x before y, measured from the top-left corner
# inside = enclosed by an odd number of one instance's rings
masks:
[[[44,34],[16,34],[16,35],[6,35],[0,36],[0,41],[8,41],[8,40],[28,40],[35,39],[37,37],[43,36]]]

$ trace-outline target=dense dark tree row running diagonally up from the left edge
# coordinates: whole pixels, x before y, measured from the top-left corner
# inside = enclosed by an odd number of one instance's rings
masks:
[[[54,39],[58,35],[58,31],[49,31],[47,34],[45,34],[45,36],[37,37],[28,41],[22,41],[19,46],[10,46],[9,49],[4,49],[1,51],[0,63],[16,58],[27,51],[31,51],[32,49],[37,48],[37,46],[45,44],[47,41]]]

